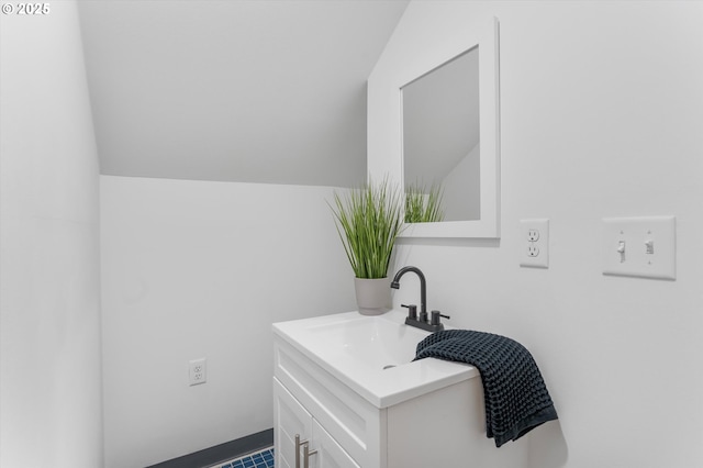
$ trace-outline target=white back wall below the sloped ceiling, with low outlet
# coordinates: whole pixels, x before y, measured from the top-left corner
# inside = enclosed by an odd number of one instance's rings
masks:
[[[267,430],[271,323],[354,310],[325,187],[101,177],[105,467]],[[188,361],[208,359],[189,387]]]

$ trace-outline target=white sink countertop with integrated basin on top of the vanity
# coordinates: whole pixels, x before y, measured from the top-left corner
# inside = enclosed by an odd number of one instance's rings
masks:
[[[358,312],[274,324],[275,337],[293,346],[377,408],[387,408],[478,376],[472,366],[439,359],[413,361],[417,343],[429,335],[405,325],[392,310]]]

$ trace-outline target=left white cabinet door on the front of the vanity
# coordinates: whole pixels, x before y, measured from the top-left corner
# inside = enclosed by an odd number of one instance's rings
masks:
[[[276,445],[276,468],[295,467],[295,434],[309,439],[312,434],[312,416],[274,378],[274,443]]]

